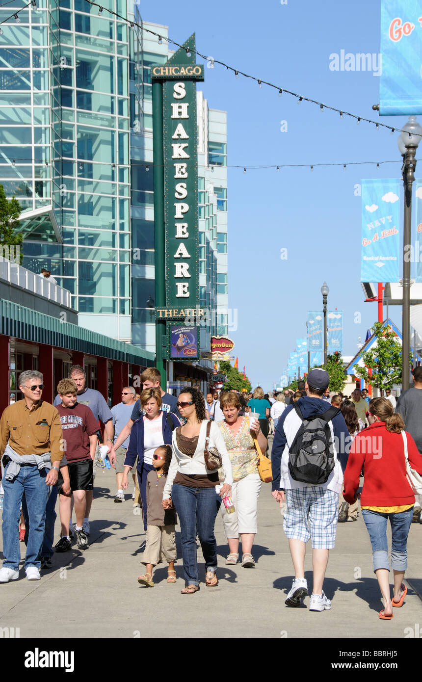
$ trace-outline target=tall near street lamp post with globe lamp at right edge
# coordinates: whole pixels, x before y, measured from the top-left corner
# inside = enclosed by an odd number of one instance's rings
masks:
[[[402,179],[404,185],[404,219],[403,219],[403,340],[402,340],[402,391],[410,385],[410,259],[408,246],[412,231],[412,183],[415,179],[417,146],[421,141],[422,127],[416,116],[409,116],[409,120],[402,128],[402,134],[397,140],[403,157]],[[406,249],[407,246],[407,249]]]

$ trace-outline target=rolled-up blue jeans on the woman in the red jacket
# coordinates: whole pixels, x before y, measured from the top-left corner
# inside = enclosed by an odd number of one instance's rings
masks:
[[[367,532],[370,534],[374,572],[379,568],[389,571],[387,519],[391,523],[391,568],[395,571],[406,571],[407,539],[413,518],[413,507],[407,511],[396,511],[393,514],[362,509],[362,516]]]

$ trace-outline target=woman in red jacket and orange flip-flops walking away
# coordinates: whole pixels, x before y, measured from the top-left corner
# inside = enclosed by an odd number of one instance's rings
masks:
[[[391,606],[403,606],[407,587],[407,538],[412,523],[415,495],[406,479],[405,439],[410,466],[422,473],[422,456],[415,441],[404,431],[404,421],[393,413],[386,398],[373,398],[369,404],[370,426],[356,436],[344,472],[344,499],[357,499],[359,475],[363,466],[362,516],[372,544],[374,572],[378,579],[384,609],[380,618],[393,618]],[[391,523],[391,568],[394,573],[393,601],[389,584],[387,519]]]

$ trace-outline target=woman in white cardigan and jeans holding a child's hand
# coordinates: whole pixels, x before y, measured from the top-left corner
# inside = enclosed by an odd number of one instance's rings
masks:
[[[181,417],[186,423],[173,431],[173,457],[164,486],[162,505],[170,509],[175,503],[181,529],[183,570],[185,572],[184,595],[199,589],[196,562],[196,533],[198,532],[202,554],[205,559],[205,584],[217,584],[217,542],[214,524],[221,500],[217,499],[215,486],[220,484],[218,472],[207,469],[204,458],[207,424],[210,425],[209,449],[217,447],[222,456],[225,481],[220,496],[230,495],[233,482],[232,466],[223,436],[215,422],[207,421],[205,402],[198,389],[189,389],[179,395],[177,402]]]

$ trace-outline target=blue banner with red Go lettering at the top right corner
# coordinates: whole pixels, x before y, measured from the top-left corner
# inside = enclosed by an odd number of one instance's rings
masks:
[[[381,116],[422,114],[421,16],[422,0],[381,1]]]

